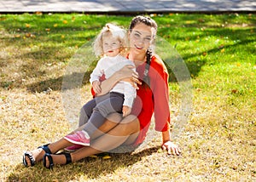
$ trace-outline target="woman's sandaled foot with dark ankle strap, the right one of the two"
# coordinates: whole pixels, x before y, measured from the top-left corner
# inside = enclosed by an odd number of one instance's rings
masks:
[[[61,153],[56,155],[50,155],[46,153],[43,157],[44,167],[53,168],[55,164],[68,164],[72,162],[70,153]]]

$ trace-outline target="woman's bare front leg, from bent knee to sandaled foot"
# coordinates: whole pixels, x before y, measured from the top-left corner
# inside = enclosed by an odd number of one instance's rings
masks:
[[[122,144],[131,144],[137,139],[140,131],[140,124],[137,117],[125,117],[115,128],[111,129],[107,134],[95,139],[90,146],[84,146],[78,151],[71,153],[72,162],[101,153],[102,151],[110,151]],[[55,164],[65,164],[66,158],[63,155],[51,155]],[[47,160],[47,159],[46,159]],[[49,162],[46,162],[46,166]]]

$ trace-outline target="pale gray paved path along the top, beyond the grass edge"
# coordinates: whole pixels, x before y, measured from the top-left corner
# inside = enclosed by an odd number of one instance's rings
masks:
[[[0,0],[0,14],[24,12],[134,14],[254,12],[255,0]]]

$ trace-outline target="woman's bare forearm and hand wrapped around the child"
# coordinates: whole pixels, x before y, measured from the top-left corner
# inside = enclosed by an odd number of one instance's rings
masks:
[[[96,96],[108,94],[113,86],[120,80],[130,80],[130,82],[135,82],[133,87],[137,88],[137,84],[141,84],[141,82],[138,80],[137,72],[133,71],[132,69],[134,69],[133,65],[125,65],[122,69],[113,73],[111,77],[108,77],[107,80],[104,80],[101,83],[102,92],[100,94],[96,94]]]

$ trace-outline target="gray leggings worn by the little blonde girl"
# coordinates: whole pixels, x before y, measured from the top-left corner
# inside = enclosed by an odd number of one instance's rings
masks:
[[[113,112],[122,113],[124,94],[111,92],[87,102],[80,111],[79,127],[84,125],[84,131],[89,134],[96,132],[102,126],[106,117]]]

